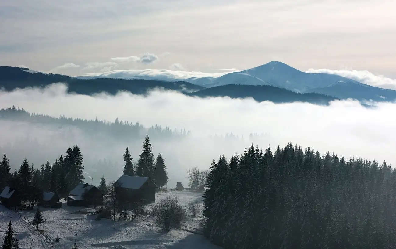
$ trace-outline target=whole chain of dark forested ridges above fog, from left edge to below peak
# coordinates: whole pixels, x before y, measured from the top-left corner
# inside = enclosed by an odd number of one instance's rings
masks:
[[[29,68],[0,66],[0,88],[12,91],[16,88],[45,87],[51,83],[63,82],[69,86],[69,92],[92,95],[100,92],[116,94],[128,91],[133,94],[145,94],[153,88],[175,90],[194,97],[252,97],[256,101],[273,101],[289,103],[295,101],[327,105],[337,98],[317,93],[297,93],[270,85],[237,85],[227,84],[206,88],[187,81],[163,81],[150,79],[119,79],[116,77],[94,77],[79,79],[59,74],[46,74],[32,71]],[[17,103],[15,103],[17,105]]]

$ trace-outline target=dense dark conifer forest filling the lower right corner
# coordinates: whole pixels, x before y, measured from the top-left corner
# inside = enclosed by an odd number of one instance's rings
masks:
[[[210,167],[205,236],[226,249],[396,248],[396,170],[289,143]]]

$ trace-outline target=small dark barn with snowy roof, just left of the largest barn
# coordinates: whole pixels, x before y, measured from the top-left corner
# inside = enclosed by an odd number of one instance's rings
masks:
[[[94,185],[79,183],[67,197],[67,206],[89,206],[103,204],[103,194]]]

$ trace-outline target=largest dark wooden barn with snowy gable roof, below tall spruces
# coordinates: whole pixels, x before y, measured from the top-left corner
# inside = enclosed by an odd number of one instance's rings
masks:
[[[148,177],[122,175],[113,186],[116,191],[125,190],[131,202],[155,203],[158,186]]]

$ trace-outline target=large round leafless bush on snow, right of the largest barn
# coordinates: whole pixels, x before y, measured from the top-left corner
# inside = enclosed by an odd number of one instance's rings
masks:
[[[154,212],[156,225],[168,232],[173,227],[180,227],[184,218],[185,210],[179,205],[177,196],[162,199]]]

